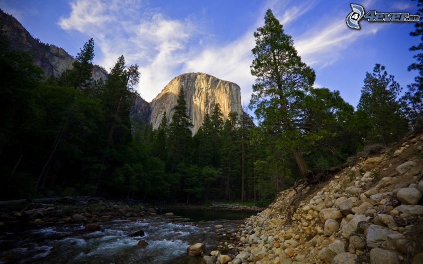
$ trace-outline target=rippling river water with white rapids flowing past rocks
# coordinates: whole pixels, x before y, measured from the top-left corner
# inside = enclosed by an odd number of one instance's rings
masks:
[[[241,219],[253,211],[174,210],[180,217],[154,215],[142,220],[128,218],[99,222],[102,231],[84,231],[82,224],[63,224],[25,231],[0,233],[1,262],[13,263],[199,263],[187,255],[189,245],[201,242],[213,250],[226,229],[235,231]],[[186,219],[190,218],[190,219]],[[214,226],[224,229],[216,234]],[[143,230],[142,237],[130,233]],[[139,240],[148,243],[137,247]],[[229,241],[229,240],[228,240]]]

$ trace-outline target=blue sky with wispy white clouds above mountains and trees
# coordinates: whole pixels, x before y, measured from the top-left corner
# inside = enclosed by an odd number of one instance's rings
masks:
[[[415,13],[416,1],[354,0],[366,10]],[[412,23],[346,26],[350,1],[338,0],[0,0],[34,36],[75,56],[90,38],[95,63],[112,67],[123,54],[140,66],[138,91],[151,101],[175,76],[204,72],[241,87],[248,104],[254,77],[249,73],[254,30],[271,8],[294,39],[303,61],[316,71],[315,87],[339,90],[353,106],[360,98],[366,71],[386,66],[403,88],[415,72],[410,46]]]

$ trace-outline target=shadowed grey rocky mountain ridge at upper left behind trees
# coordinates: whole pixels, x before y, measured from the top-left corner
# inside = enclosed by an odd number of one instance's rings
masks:
[[[44,70],[45,76],[59,76],[64,70],[72,69],[75,59],[64,49],[40,42],[13,16],[0,9],[0,24],[3,33],[9,40],[11,49],[27,51],[33,58],[34,64]],[[94,80],[107,79],[105,69],[95,65],[93,70]]]

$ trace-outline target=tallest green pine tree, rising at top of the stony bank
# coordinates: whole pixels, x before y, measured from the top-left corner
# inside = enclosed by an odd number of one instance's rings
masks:
[[[307,91],[313,86],[316,75],[313,69],[301,61],[291,36],[285,34],[282,25],[270,9],[264,17],[263,27],[254,32],[256,46],[251,74],[256,77],[250,107],[260,126],[274,135],[274,144],[280,149],[290,149],[300,170],[308,174],[308,166],[302,151],[304,112],[299,107]]]

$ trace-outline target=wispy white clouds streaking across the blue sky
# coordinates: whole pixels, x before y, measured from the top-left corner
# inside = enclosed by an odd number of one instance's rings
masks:
[[[65,30],[77,30],[94,37],[102,52],[96,62],[106,68],[121,54],[128,63],[139,64],[139,92],[147,100],[153,99],[179,74],[204,72],[238,84],[242,100],[247,104],[254,83],[250,75],[251,49],[255,45],[253,32],[263,24],[266,9],[272,8],[287,30],[316,4],[317,1],[298,4],[269,0],[257,11],[251,26],[230,42],[219,42],[218,36],[207,33],[201,19],[172,19],[138,0],[75,0],[70,14],[62,17],[58,24]],[[350,30],[339,23],[343,20],[344,17],[336,21],[322,17],[307,31],[294,34],[295,46],[306,63],[313,67],[329,65],[341,58],[342,52],[359,36],[377,32],[367,23],[360,31]],[[211,38],[217,41],[206,41]]]

